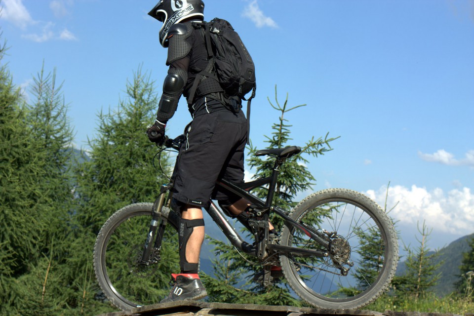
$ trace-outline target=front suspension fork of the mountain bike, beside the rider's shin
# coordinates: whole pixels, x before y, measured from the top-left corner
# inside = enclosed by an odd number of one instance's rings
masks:
[[[166,185],[163,185],[161,187],[161,194],[158,196],[158,198],[155,200],[155,203],[153,204],[152,208],[152,221],[150,223],[150,228],[148,229],[148,234],[147,234],[147,239],[145,240],[145,246],[143,249],[143,254],[142,254],[142,263],[145,265],[150,265],[154,263],[154,260],[150,260],[150,254],[152,253],[152,250],[155,248],[159,248],[161,245],[161,239],[163,238],[163,233],[164,229],[166,226],[166,220],[161,218],[161,208],[164,205],[165,197],[166,197],[166,191],[164,190]],[[159,227],[158,227],[159,223]],[[155,239],[155,242],[153,242],[153,238],[157,236]]]

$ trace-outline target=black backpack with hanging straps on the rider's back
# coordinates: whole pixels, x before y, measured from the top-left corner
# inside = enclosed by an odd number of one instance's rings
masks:
[[[229,22],[215,18],[210,22],[193,22],[204,31],[209,63],[214,64],[215,75],[201,71],[190,91],[188,103],[192,104],[197,85],[202,76],[216,79],[224,90],[226,99],[238,97],[247,102],[247,121],[250,120],[250,101],[255,97],[255,65],[242,40]],[[252,91],[250,97],[245,95]]]

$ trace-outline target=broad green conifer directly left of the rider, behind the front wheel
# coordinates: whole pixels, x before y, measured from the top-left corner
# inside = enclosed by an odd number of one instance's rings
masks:
[[[76,171],[82,225],[90,226],[94,235],[114,211],[153,201],[160,183],[167,182],[153,167],[157,150],[145,134],[158,107],[154,83],[139,69],[127,82],[126,93],[116,111],[99,114],[98,137],[89,141],[90,159]]]

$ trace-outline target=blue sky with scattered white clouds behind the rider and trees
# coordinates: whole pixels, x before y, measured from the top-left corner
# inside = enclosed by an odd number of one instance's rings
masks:
[[[114,109],[139,65],[166,76],[156,0],[2,0],[2,40],[14,82],[28,95],[44,60],[57,69],[76,131],[87,147],[96,114]],[[315,190],[344,187],[388,206],[402,240],[417,222],[430,246],[474,233],[473,0],[205,0],[207,20],[229,20],[257,68],[251,139],[264,147],[289,93],[291,145],[341,136],[311,158]],[[171,135],[190,120],[184,100]],[[153,118],[150,118],[150,122]],[[251,170],[248,172],[251,174]],[[303,196],[303,194],[302,194]]]

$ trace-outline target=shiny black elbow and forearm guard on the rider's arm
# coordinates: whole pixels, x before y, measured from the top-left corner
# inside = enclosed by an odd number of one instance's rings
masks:
[[[158,104],[157,119],[166,123],[178,108],[178,101],[188,80],[188,72],[180,68],[171,68],[164,79],[163,94]]]

